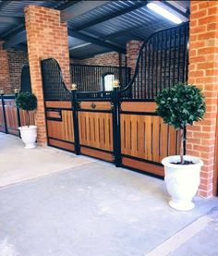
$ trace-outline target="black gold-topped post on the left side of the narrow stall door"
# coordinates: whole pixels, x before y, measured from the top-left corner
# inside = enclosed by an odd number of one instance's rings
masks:
[[[74,150],[76,154],[80,153],[79,147],[79,118],[78,118],[78,99],[77,87],[72,85],[72,111],[73,111],[73,126],[74,126]]]

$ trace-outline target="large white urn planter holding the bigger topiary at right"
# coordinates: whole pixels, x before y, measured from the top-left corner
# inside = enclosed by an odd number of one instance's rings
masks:
[[[203,162],[198,157],[184,156],[185,160],[192,161],[194,165],[174,165],[180,161],[179,155],[163,158],[164,181],[166,189],[172,199],[169,201],[171,207],[176,210],[188,211],[194,208],[192,202],[200,186],[200,167]]]

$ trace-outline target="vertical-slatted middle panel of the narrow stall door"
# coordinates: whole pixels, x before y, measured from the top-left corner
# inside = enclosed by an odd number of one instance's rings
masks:
[[[112,151],[112,114],[79,112],[79,141],[81,145]]]

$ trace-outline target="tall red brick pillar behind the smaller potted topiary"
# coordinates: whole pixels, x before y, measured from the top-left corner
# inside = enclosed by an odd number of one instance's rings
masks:
[[[44,103],[42,95],[41,60],[55,58],[63,72],[67,86],[70,84],[67,23],[60,22],[60,11],[42,6],[25,9],[30,79],[33,93],[38,98],[36,126],[38,141],[46,142]]]

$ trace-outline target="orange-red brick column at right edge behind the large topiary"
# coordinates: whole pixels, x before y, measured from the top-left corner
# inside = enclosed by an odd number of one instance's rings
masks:
[[[203,121],[188,128],[188,154],[203,162],[199,194],[212,196],[214,145],[218,97],[218,1],[190,1],[188,82],[206,97]]]

